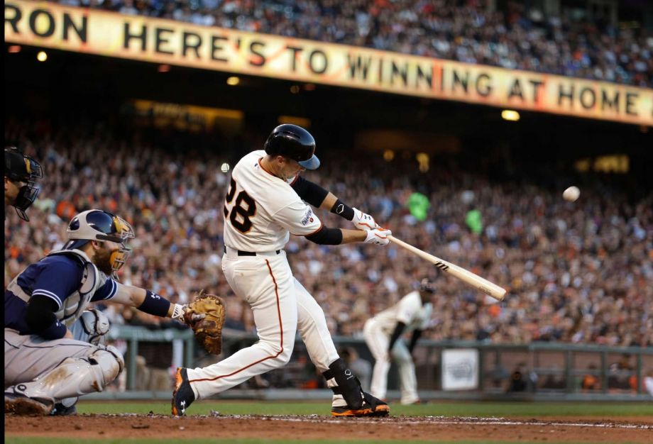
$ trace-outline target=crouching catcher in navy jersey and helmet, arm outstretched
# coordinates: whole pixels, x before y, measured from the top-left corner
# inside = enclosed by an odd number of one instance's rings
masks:
[[[29,265],[4,292],[4,406],[14,414],[73,414],[83,394],[101,392],[124,367],[101,345],[109,321],[89,302],[111,299],[182,320],[184,306],[117,282],[133,229],[101,210],[77,214],[67,243]]]

